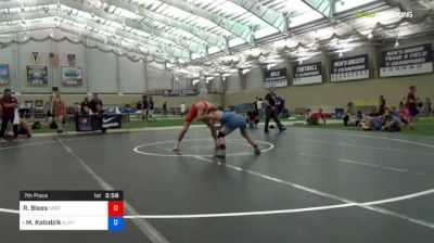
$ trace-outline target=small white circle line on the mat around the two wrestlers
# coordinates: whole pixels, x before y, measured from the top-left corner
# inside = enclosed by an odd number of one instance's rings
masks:
[[[227,139],[227,140],[228,141],[244,141],[242,139]],[[183,140],[183,141],[184,142],[191,142],[191,141],[213,141],[213,140],[212,139],[187,139],[187,140]],[[214,157],[214,155],[209,155],[209,154],[203,154],[203,155],[200,155],[200,154],[181,154],[179,152],[174,152],[174,153],[177,153],[177,154],[156,154],[156,153],[148,153],[148,152],[140,151],[140,149],[144,148],[144,146],[159,145],[159,144],[175,143],[175,142],[176,142],[175,140],[170,140],[170,141],[144,143],[144,144],[136,146],[133,149],[133,151],[136,153],[139,153],[139,154],[144,154],[144,155],[150,155],[150,156],[159,156],[159,157],[195,157],[195,156]],[[261,143],[261,144],[266,144],[266,145],[269,146],[269,148],[267,148],[265,150],[261,150],[260,151],[261,153],[265,153],[265,152],[268,152],[268,151],[275,149],[275,145],[272,143],[264,142],[264,141],[256,141],[256,142],[257,143]],[[248,155],[248,154],[252,154],[252,153],[247,153],[247,152],[245,152],[245,153],[232,153],[232,154],[227,154],[226,156],[240,156],[240,155]]]

